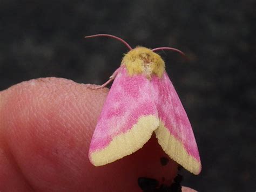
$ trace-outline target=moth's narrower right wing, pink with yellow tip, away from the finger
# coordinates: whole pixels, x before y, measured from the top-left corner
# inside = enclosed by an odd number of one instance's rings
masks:
[[[156,93],[160,126],[156,129],[158,143],[174,161],[193,174],[201,171],[196,139],[190,121],[167,73],[151,81]]]

